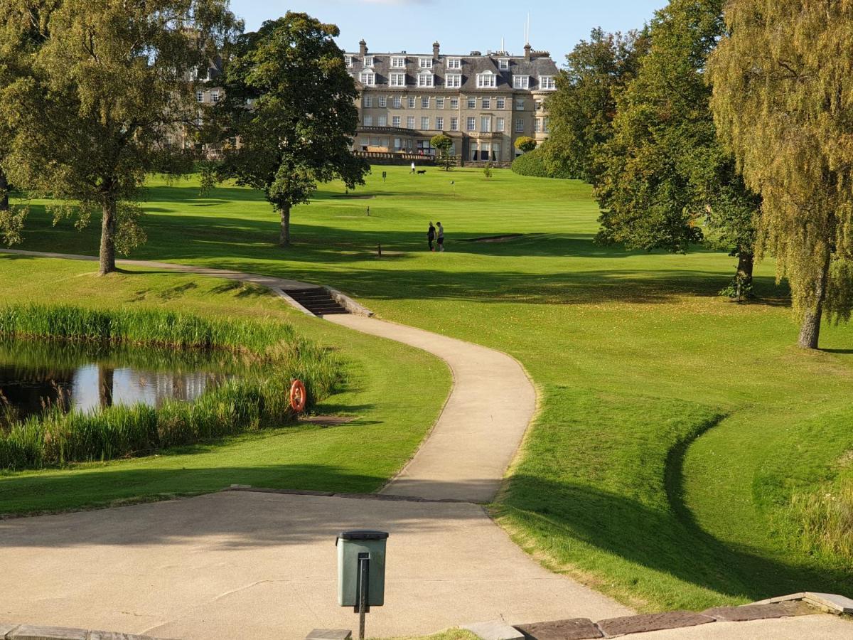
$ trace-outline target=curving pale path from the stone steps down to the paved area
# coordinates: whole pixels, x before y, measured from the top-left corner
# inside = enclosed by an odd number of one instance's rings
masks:
[[[453,392],[435,428],[382,492],[490,502],[536,410],[536,391],[521,365],[505,353],[402,324],[363,316],[327,319],[432,352],[453,371]]]

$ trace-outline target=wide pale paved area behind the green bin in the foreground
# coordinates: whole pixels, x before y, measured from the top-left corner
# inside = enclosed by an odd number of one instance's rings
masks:
[[[391,533],[371,636],[631,613],[540,567],[476,504],[221,492],[0,521],[0,621],[183,640],[351,629],[334,541],[364,527]]]

